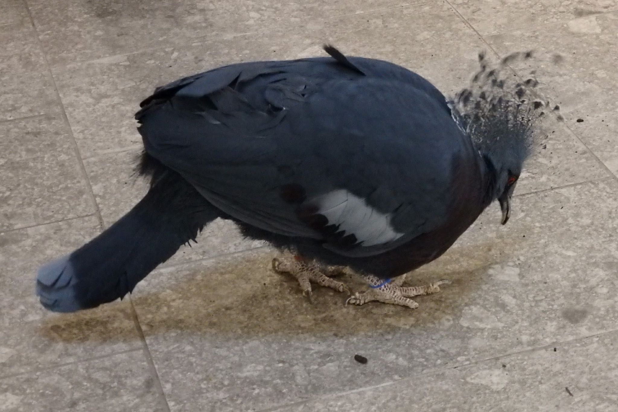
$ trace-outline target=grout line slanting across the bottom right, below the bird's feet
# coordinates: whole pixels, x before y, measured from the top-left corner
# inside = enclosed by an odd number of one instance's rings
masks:
[[[481,364],[481,363],[484,363],[484,362],[488,362],[488,361],[494,361],[494,360],[497,360],[497,359],[509,358],[510,356],[523,355],[525,353],[531,353],[531,352],[535,352],[535,351],[542,351],[542,350],[545,350],[545,349],[548,349],[548,348],[557,347],[559,345],[565,345],[565,344],[570,344],[570,343],[578,342],[580,340],[586,340],[586,339],[595,338],[595,337],[599,337],[599,336],[603,336],[603,335],[614,334],[616,332],[618,332],[618,329],[606,330],[605,332],[599,332],[597,334],[582,336],[582,337],[578,337],[578,338],[574,338],[574,339],[568,339],[568,340],[563,340],[563,341],[559,341],[559,342],[552,342],[552,343],[548,343],[547,345],[543,345],[543,346],[540,346],[540,347],[527,348],[525,350],[505,353],[503,355],[491,356],[489,358],[477,359],[477,360],[472,361],[470,363],[462,363],[462,364],[459,364],[459,365],[456,365],[456,366],[446,366],[446,367],[442,367],[442,368],[431,369],[430,371],[420,372],[418,374],[413,374],[412,376],[407,376],[407,377],[403,377],[403,378],[400,378],[400,379],[389,380],[388,382],[383,382],[381,384],[371,385],[371,386],[368,386],[368,387],[362,387],[362,388],[358,388],[358,389],[344,390],[343,392],[328,393],[326,395],[318,396],[316,398],[302,400],[302,401],[296,401],[296,402],[292,402],[292,403],[286,403],[285,405],[273,406],[271,408],[255,410],[253,412],[276,412],[276,411],[279,411],[279,410],[284,410],[285,408],[289,408],[290,406],[298,406],[298,405],[308,404],[308,403],[316,401],[316,400],[325,400],[325,399],[329,399],[329,398],[336,398],[336,397],[342,397],[342,396],[345,396],[345,395],[350,395],[352,393],[365,392],[366,390],[378,389],[378,388],[381,388],[381,387],[386,387],[386,386],[391,386],[391,385],[394,385],[394,384],[398,384],[399,382],[405,382],[407,380],[417,379],[418,377],[421,377],[421,376],[428,376],[428,375],[438,374],[438,373],[441,373],[441,372],[450,371],[451,369],[469,368],[469,367],[472,367],[472,366],[475,366],[475,365],[478,365],[478,364]]]

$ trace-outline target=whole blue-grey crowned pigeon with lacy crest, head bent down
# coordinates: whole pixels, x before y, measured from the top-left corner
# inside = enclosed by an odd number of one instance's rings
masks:
[[[443,254],[492,201],[509,199],[546,103],[507,88],[507,57],[483,54],[472,87],[447,99],[395,64],[345,57],[232,64],[159,87],[135,115],[150,190],[91,242],[41,267],[36,293],[58,312],[132,292],[217,217],[289,250],[273,267],[344,290],[349,268],[370,289],[350,303],[417,307],[406,274]],[[506,71],[506,70],[505,70]],[[505,80],[506,79],[506,80]]]

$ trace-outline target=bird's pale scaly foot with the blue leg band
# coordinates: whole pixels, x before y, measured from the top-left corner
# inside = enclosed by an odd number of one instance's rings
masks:
[[[418,308],[418,303],[410,298],[413,296],[440,292],[440,285],[451,283],[450,280],[443,279],[429,285],[403,287],[402,284],[405,280],[405,274],[392,281],[380,279],[374,275],[368,275],[366,279],[370,289],[363,293],[354,293],[345,303],[364,305],[371,301],[379,301],[390,303],[391,305],[407,306],[408,308],[416,309]]]

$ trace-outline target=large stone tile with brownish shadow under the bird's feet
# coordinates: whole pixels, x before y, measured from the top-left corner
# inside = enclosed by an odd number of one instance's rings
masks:
[[[492,205],[410,279],[451,279],[420,308],[310,305],[268,248],[159,269],[133,300],[173,411],[260,410],[616,328],[615,180]],[[357,280],[344,279],[355,290]],[[355,353],[370,358],[362,366]],[[207,384],[204,384],[207,382]]]

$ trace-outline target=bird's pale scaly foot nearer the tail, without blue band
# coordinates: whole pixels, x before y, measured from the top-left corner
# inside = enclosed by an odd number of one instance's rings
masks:
[[[318,266],[314,262],[307,261],[301,256],[294,256],[293,259],[273,259],[273,270],[279,273],[289,273],[298,280],[303,296],[308,296],[313,303],[311,292],[311,282],[320,286],[329,287],[337,292],[344,292],[348,288],[341,282],[327,276],[342,274],[345,268],[342,266]]]

